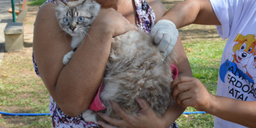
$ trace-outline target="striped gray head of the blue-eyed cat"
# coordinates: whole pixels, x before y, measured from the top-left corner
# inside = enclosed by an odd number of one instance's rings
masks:
[[[78,0],[64,3],[56,0],[56,17],[60,28],[70,36],[86,33],[100,11],[95,0]]]

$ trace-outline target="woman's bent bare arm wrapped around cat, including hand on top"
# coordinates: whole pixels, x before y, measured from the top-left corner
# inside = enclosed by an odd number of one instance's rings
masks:
[[[68,65],[63,65],[63,56],[72,50],[70,36],[60,30],[54,12],[52,2],[38,11],[33,53],[50,95],[65,114],[76,117],[89,107],[97,92],[110,54],[112,36],[132,27],[114,9],[102,9],[85,41]]]

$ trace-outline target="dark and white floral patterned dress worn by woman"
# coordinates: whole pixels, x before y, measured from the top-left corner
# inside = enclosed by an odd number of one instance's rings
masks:
[[[63,1],[66,2],[65,0]],[[48,2],[55,3],[55,0],[47,0],[45,4]],[[142,28],[142,30],[144,30],[146,33],[150,33],[151,28],[154,26],[155,21],[154,11],[151,9],[151,6],[149,6],[149,4],[146,3],[145,0],[134,0],[134,3],[137,8],[137,26],[139,28]],[[36,74],[40,76],[36,65],[36,59],[34,58],[34,56],[33,66]],[[49,110],[53,127],[99,127],[94,122],[86,122],[83,119],[82,114],[80,114],[78,117],[69,117],[68,115],[64,114],[62,110],[60,110],[60,107],[58,107],[56,102],[53,100],[53,97],[51,96]],[[174,124],[172,124],[171,127],[175,128],[178,127],[178,125],[174,122]]]

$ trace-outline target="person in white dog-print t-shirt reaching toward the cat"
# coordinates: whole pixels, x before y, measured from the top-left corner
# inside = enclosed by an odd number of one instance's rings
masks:
[[[256,1],[186,0],[162,19],[174,22],[176,28],[191,23],[217,25],[220,37],[228,38],[217,95],[210,94],[197,78],[181,76],[171,85],[177,104],[215,115],[215,127],[256,127]]]

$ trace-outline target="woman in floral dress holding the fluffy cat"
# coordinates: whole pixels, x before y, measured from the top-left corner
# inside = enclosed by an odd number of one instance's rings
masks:
[[[33,61],[37,74],[40,73],[50,92],[49,109],[53,127],[97,127],[97,124],[83,120],[81,114],[90,107],[100,86],[110,55],[112,37],[129,31],[135,24],[150,32],[151,26],[166,11],[158,0],[97,2],[102,5],[102,9],[88,31],[87,35],[90,36],[78,47],[67,65],[63,65],[62,59],[70,51],[70,36],[65,36],[60,31],[55,17],[55,1],[46,1],[38,11],[34,29]],[[175,64],[179,75],[192,76],[180,39],[174,50],[177,53]],[[143,104],[144,100],[138,102],[143,110],[139,119],[144,122],[135,124],[136,127],[169,127],[184,110],[178,105],[171,105],[164,117],[160,118],[152,113],[148,105]],[[124,119],[124,122],[134,126],[129,120]]]

